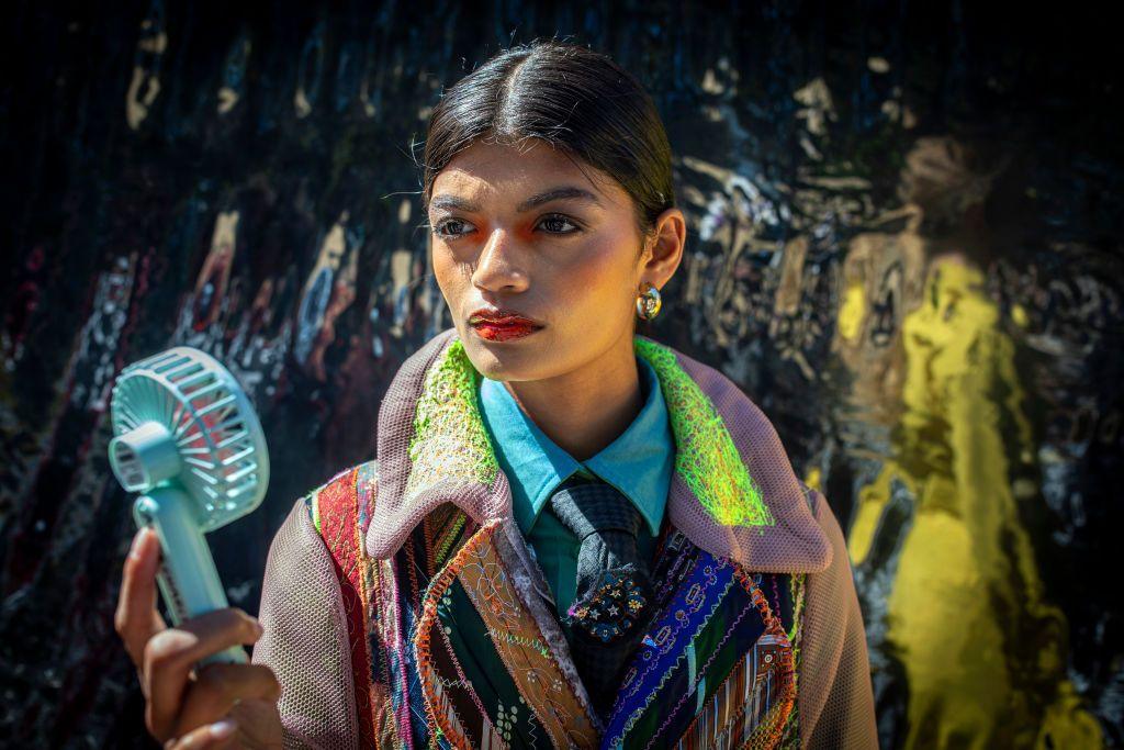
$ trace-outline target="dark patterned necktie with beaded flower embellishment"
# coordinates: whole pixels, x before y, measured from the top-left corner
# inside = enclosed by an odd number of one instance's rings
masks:
[[[550,503],[581,542],[578,594],[565,622],[578,674],[604,716],[652,608],[647,561],[636,550],[643,518],[624,494],[600,480],[572,478]]]

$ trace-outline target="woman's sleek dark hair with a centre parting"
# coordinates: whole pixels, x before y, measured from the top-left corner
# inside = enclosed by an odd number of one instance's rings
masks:
[[[505,49],[444,92],[426,134],[425,205],[437,173],[464,148],[528,138],[620,183],[642,236],[676,205],[671,146],[652,98],[607,55],[553,39]]]

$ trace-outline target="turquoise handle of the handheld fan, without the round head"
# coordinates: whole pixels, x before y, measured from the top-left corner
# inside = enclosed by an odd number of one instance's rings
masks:
[[[138,527],[152,527],[160,539],[162,562],[156,579],[173,625],[229,606],[185,491],[171,484],[154,487],[133,504],[133,517]],[[216,662],[245,663],[246,652],[234,645],[199,663]]]

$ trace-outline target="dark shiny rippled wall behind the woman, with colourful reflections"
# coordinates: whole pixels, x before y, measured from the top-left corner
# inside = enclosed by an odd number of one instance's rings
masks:
[[[214,534],[254,611],[450,322],[410,145],[499,45],[650,87],[687,255],[652,334],[765,409],[849,535],[886,747],[1124,741],[1118,42],[951,2],[17,2],[3,11],[0,743],[145,747],[112,631],[128,362],[205,349],[272,449]]]

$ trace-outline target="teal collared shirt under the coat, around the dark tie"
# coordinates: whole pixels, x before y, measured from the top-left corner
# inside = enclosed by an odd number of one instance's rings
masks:
[[[644,405],[611,443],[578,461],[546,436],[504,383],[482,378],[480,406],[496,459],[511,485],[511,513],[554,591],[560,613],[577,594],[578,539],[546,507],[573,475],[596,475],[620,490],[645,521],[640,549],[650,554],[663,523],[676,448],[668,407],[652,365],[636,358]],[[544,508],[546,512],[544,513]]]

